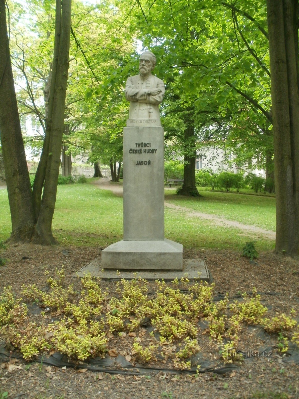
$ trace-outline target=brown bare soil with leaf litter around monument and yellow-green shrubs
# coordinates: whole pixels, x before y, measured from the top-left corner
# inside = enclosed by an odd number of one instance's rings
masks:
[[[119,186],[105,183],[107,186]],[[121,186],[120,186],[121,187]],[[119,192],[121,195],[121,192]],[[81,280],[74,276],[76,271],[100,256],[98,247],[42,247],[39,245],[10,245],[0,254],[6,264],[0,267],[0,290],[11,285],[14,292],[20,292],[22,284],[47,286],[44,272],[54,274],[55,268],[65,267],[66,284],[81,289]],[[252,292],[256,287],[261,294],[269,316],[285,313],[291,309],[299,316],[299,262],[296,259],[280,257],[273,253],[261,253],[256,261],[250,261],[233,251],[184,249],[185,258],[205,259],[214,279],[215,296],[228,293],[230,298],[240,293]],[[115,281],[101,281],[114,294]],[[153,289],[148,282],[149,293]],[[170,283],[169,283],[170,284]],[[34,317],[34,315],[32,316]],[[298,319],[299,320],[299,319]],[[220,365],[218,348],[211,344],[209,334],[203,335],[201,354],[214,367]],[[114,355],[130,354],[128,335],[110,340]],[[271,352],[258,356],[262,348]],[[0,363],[0,398],[299,398],[299,357],[296,361],[292,350],[281,354],[277,349],[277,336],[264,334],[258,326],[245,326],[240,333],[240,351],[250,355],[237,368],[189,375],[177,371],[154,371],[140,369],[139,375],[110,374],[90,371],[87,368],[55,367],[39,363],[28,363],[14,358],[11,352],[8,361]],[[293,348],[294,349],[294,348]],[[296,348],[295,348],[296,351]],[[297,348],[297,353],[299,352]],[[293,360],[294,359],[294,360]],[[149,367],[169,367],[163,361],[149,363]],[[85,367],[81,365],[80,367]],[[205,367],[203,367],[202,371]],[[119,367],[121,370],[121,367]],[[121,372],[121,371],[120,371]],[[1,396],[2,395],[2,396]]]

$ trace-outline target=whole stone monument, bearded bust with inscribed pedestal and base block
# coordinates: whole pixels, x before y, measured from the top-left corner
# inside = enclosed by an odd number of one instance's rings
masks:
[[[126,82],[124,239],[102,251],[102,268],[182,270],[183,245],[164,237],[164,130],[159,104],[165,87],[152,75],[153,53],[140,56],[139,75]]]

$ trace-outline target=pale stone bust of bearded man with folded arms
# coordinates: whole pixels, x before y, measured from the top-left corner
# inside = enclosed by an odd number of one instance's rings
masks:
[[[150,51],[140,55],[139,75],[130,76],[126,82],[125,95],[130,101],[130,126],[161,126],[159,104],[162,102],[165,86],[163,80],[152,75],[156,57]],[[129,122],[129,123],[128,123]]]

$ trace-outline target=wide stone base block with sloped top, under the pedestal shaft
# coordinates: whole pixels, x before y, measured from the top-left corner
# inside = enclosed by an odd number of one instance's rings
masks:
[[[163,241],[118,241],[102,251],[103,269],[183,270],[183,245]]]

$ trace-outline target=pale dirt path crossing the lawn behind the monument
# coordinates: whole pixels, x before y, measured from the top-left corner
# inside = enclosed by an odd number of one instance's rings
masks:
[[[122,194],[123,194],[122,184],[106,180],[105,178],[99,178],[98,180],[94,181],[92,184],[94,184],[98,188],[103,188],[104,190],[110,190],[118,196],[122,196]],[[246,232],[258,234],[260,236],[263,236],[266,239],[275,240],[275,231],[262,229],[261,227],[256,227],[256,226],[252,226],[252,225],[246,225],[244,223],[240,223],[240,222],[234,221],[234,220],[224,219],[222,217],[218,217],[218,216],[212,215],[210,213],[202,213],[202,212],[192,211],[189,208],[175,205],[175,204],[169,203],[169,202],[165,202],[165,206],[168,208],[171,208],[171,209],[176,209],[178,211],[186,212],[188,216],[200,217],[201,219],[211,220],[216,225],[219,225],[219,226],[225,225],[225,226],[229,226],[229,227],[235,227],[236,229],[240,229],[240,230],[243,230]]]

